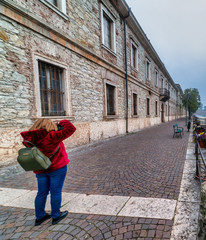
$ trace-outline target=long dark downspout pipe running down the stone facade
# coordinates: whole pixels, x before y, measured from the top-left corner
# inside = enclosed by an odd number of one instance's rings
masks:
[[[124,21],[124,56],[125,56],[125,83],[126,83],[126,133],[128,133],[128,72],[127,72],[127,29],[126,19],[130,16],[131,8],[128,10],[127,16],[123,17]]]

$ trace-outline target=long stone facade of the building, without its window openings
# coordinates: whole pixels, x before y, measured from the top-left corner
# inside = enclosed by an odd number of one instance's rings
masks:
[[[84,4],[80,0],[67,1],[67,20],[42,1],[12,2],[18,4],[19,11],[24,11],[25,16],[9,11],[6,11],[8,16],[5,16],[5,12],[0,15],[0,160],[6,161],[16,156],[21,147],[20,132],[27,130],[36,118],[41,117],[37,58],[62,65],[66,72],[64,81],[67,86],[65,95],[68,96],[68,114],[64,118],[70,119],[77,128],[75,134],[65,141],[67,148],[125,134],[123,22],[110,1],[103,2],[116,16],[116,54],[111,54],[102,47],[99,1],[88,0]],[[30,21],[27,17],[29,14],[35,14],[36,20]],[[58,31],[51,30],[50,26]],[[146,52],[129,27],[127,29],[128,126],[129,132],[133,132],[161,122],[161,102],[158,89],[154,85],[153,71],[151,82],[145,81]],[[139,48],[139,69],[136,75],[132,75],[130,68],[131,36]],[[80,45],[75,45],[75,42]],[[155,63],[152,59],[151,65],[153,69]],[[108,82],[117,89],[118,114],[112,119],[108,118],[105,110],[105,84]],[[138,97],[138,115],[135,117],[132,113],[133,93]],[[150,116],[146,117],[147,98],[151,105]],[[157,116],[155,101],[158,102]],[[170,104],[175,108],[175,101]],[[175,118],[174,111],[170,120]],[[60,117],[55,120],[60,120]]]

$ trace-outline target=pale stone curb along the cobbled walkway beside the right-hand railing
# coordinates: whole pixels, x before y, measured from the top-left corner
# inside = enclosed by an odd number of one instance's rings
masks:
[[[196,157],[193,133],[190,131],[180,193],[176,205],[170,240],[197,240],[200,184],[195,179]]]

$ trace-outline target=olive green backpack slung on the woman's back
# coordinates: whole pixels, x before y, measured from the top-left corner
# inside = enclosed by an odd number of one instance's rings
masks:
[[[27,147],[24,143],[27,142],[32,147]],[[50,156],[45,156],[33,143],[29,141],[22,142],[26,147],[21,148],[18,152],[17,161],[25,171],[45,170],[51,165],[51,160],[57,150]]]

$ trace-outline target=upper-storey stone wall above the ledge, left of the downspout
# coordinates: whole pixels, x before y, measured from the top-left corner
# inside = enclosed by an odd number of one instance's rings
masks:
[[[11,0],[10,0],[11,1]],[[12,2],[22,6],[26,11],[31,12],[46,23],[62,31],[75,42],[87,47],[95,54],[110,61],[114,60],[118,67],[122,68],[123,59],[123,23],[119,13],[109,0],[100,1],[87,0],[67,0],[66,8],[68,19],[65,20],[58,13],[54,12],[41,1],[35,0],[12,0]],[[101,4],[107,6],[116,16],[116,49],[115,57],[105,51],[101,45]]]

